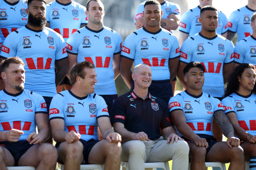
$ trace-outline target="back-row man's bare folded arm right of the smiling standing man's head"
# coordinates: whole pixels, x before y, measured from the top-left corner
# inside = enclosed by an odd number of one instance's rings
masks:
[[[180,24],[180,14],[169,14],[169,18],[161,18],[160,25],[166,30],[176,30]]]

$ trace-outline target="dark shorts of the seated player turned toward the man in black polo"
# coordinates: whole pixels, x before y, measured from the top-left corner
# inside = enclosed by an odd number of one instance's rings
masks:
[[[83,160],[84,160],[84,164],[89,164],[88,158],[89,158],[89,153],[91,151],[91,149],[94,147],[94,145],[99,142],[100,140],[94,140],[94,139],[90,139],[88,141],[80,139],[80,142],[83,143]],[[59,150],[59,146],[60,146],[60,142],[56,143],[55,147]],[[58,163],[64,164],[61,161],[61,157],[58,157]]]

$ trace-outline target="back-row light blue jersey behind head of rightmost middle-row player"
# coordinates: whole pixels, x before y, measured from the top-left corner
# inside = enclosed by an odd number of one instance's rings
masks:
[[[199,22],[201,7],[195,7],[188,10],[181,16],[179,30],[189,34],[189,37],[197,34],[201,31],[202,25]],[[221,11],[218,10],[218,27],[216,29],[217,34],[221,35],[227,32],[227,17]]]

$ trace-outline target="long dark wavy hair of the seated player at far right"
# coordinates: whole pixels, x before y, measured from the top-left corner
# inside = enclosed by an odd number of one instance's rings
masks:
[[[227,81],[227,88],[225,88],[224,97],[227,97],[238,90],[238,88],[239,88],[238,77],[242,76],[242,73],[245,71],[245,69],[254,69],[254,71],[255,71],[255,66],[253,66],[252,64],[247,64],[247,63],[243,63],[243,64],[240,64],[239,66],[237,66],[234,69],[234,72],[231,73],[231,75],[229,76],[229,79]],[[253,87],[252,92],[256,93],[256,86]]]

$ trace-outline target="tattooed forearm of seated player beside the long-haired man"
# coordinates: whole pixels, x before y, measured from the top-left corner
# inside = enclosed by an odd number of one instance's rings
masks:
[[[234,136],[234,128],[230,121],[228,120],[224,111],[216,111],[214,113],[214,118],[218,125],[220,126],[223,134],[226,137],[233,137]]]

